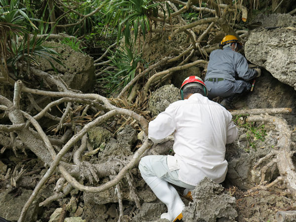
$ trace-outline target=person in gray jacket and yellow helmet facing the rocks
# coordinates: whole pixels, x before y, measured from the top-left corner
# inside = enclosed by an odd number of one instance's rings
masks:
[[[211,52],[205,76],[208,98],[224,97],[221,105],[230,108],[233,97],[251,89],[251,79],[259,77],[260,69],[250,69],[246,58],[238,52],[242,47],[237,37],[227,35],[219,44],[222,49]]]

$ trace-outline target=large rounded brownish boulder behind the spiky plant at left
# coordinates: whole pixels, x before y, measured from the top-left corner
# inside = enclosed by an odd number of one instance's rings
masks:
[[[94,61],[91,56],[76,52],[70,46],[54,41],[45,42],[44,45],[51,46],[60,53],[60,59],[65,66],[61,66],[55,61],[52,61],[52,64],[70,88],[82,92],[93,90],[96,78]],[[38,69],[49,74],[56,74],[46,59],[37,58],[37,62],[39,63]]]

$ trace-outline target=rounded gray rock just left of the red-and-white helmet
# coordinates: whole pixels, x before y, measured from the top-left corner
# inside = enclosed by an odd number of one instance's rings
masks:
[[[179,89],[174,85],[164,85],[152,92],[148,102],[148,110],[154,115],[158,115],[165,111],[171,103],[178,100],[181,100]]]

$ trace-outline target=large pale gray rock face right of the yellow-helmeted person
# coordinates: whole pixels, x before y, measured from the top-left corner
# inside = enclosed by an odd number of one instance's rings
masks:
[[[263,28],[281,28],[251,33],[245,44],[246,58],[296,89],[296,16],[277,14],[260,18]]]

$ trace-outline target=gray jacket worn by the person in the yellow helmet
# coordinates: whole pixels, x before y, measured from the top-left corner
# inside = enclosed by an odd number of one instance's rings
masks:
[[[246,58],[233,51],[230,47],[211,52],[208,71],[205,80],[209,78],[224,78],[235,81],[235,75],[249,81],[257,75],[256,70],[249,69]]]

